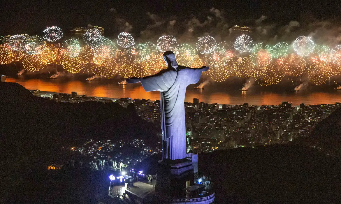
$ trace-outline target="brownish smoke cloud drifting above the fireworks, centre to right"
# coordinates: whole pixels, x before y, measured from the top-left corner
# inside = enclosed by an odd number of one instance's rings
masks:
[[[162,35],[171,34],[179,43],[195,45],[199,37],[211,35],[217,42],[234,42],[240,34],[231,29],[231,25],[246,25],[252,28],[255,43],[276,44],[284,41],[291,44],[298,36],[311,36],[316,43],[335,46],[341,43],[341,17],[318,20],[312,16],[302,15],[298,19],[288,22],[278,22],[268,16],[261,15],[258,19],[235,19],[225,15],[224,11],[210,8],[203,15],[167,16],[162,17],[146,12],[148,19],[146,26],[140,29],[137,41],[156,42]],[[132,32],[133,22],[115,13],[115,28],[119,32]],[[135,27],[135,26],[134,26]]]

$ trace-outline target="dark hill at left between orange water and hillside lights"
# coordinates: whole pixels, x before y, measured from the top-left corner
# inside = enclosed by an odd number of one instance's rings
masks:
[[[17,83],[0,83],[0,133],[16,154],[79,145],[87,139],[154,139],[157,127],[117,103],[57,103]],[[18,151],[19,150],[19,151]]]

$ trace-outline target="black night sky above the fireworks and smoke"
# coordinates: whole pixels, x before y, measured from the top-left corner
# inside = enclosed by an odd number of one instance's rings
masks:
[[[298,20],[302,15],[316,19],[329,19],[339,15],[340,3],[337,0],[312,1],[8,1],[0,3],[0,35],[20,33],[42,34],[47,26],[58,26],[63,31],[77,26],[98,25],[105,28],[105,35],[112,36],[124,31],[126,22],[132,26],[130,33],[139,37],[149,24],[150,14],[177,22],[189,19],[192,15],[204,21],[212,7],[223,12],[227,22],[242,24],[253,22],[261,15],[278,24]],[[184,28],[185,29],[185,28]]]

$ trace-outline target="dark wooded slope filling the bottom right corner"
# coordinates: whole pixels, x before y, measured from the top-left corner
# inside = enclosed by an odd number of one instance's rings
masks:
[[[340,201],[340,161],[296,145],[238,148],[198,157],[217,203],[321,204]]]

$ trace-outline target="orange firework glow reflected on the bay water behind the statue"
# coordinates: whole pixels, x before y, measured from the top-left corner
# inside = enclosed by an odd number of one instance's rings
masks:
[[[159,100],[160,93],[158,91],[146,92],[140,84],[118,85],[116,83],[103,83],[99,81],[65,81],[63,79],[24,79],[7,78],[8,82],[16,82],[23,85],[27,89],[39,89],[43,91],[54,91],[61,93],[71,93],[76,91],[77,94],[86,94],[88,96],[109,97],[109,98],[144,98],[150,100]],[[341,102],[341,90],[328,90],[326,92],[310,92],[310,91],[283,91],[280,93],[268,91],[247,92],[238,90],[218,90],[214,87],[207,86],[204,90],[194,89],[194,85],[189,86],[186,91],[186,102],[193,102],[193,98],[205,103],[220,104],[243,104],[248,102],[250,105],[278,105],[282,101],[288,101],[293,105],[300,103],[309,104],[325,104]]]

